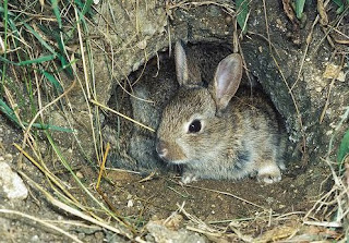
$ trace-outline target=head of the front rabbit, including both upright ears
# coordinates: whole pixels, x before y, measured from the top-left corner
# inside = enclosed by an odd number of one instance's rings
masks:
[[[231,117],[226,108],[242,77],[241,57],[232,53],[221,60],[208,88],[202,85],[195,61],[185,57],[180,42],[176,44],[174,60],[180,88],[163,111],[156,150],[165,161],[178,165],[215,159],[219,147],[224,149],[234,139],[227,133],[227,126],[233,130],[234,124],[228,125],[225,117]]]

